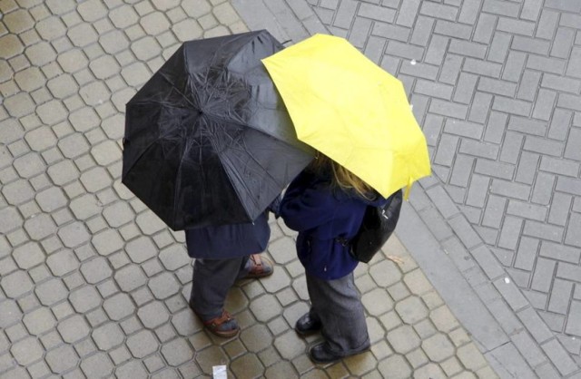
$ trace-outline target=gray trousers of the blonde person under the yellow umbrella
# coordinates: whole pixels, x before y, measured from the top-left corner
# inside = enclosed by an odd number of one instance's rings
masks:
[[[334,280],[307,274],[310,314],[318,317],[327,349],[339,356],[353,355],[369,347],[365,313],[353,273]]]

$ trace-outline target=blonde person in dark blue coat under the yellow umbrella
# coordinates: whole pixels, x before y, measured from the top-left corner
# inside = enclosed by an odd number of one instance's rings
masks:
[[[384,205],[365,182],[318,154],[291,182],[281,200],[281,218],[299,232],[297,253],[305,267],[310,311],[299,318],[300,335],[319,331],[325,342],[310,348],[316,363],[328,363],[369,349],[369,334],[344,243],[357,233],[368,205]]]

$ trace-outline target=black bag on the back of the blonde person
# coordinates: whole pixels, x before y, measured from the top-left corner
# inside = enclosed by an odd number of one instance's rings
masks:
[[[340,239],[343,246],[350,247],[353,258],[368,263],[385,244],[398,224],[402,195],[402,190],[398,190],[389,196],[383,207],[368,206],[355,237]]]

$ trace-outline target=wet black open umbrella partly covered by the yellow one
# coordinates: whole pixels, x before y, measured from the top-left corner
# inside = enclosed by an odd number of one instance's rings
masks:
[[[261,63],[282,48],[186,42],[127,103],[123,184],[174,230],[256,219],[312,159]]]

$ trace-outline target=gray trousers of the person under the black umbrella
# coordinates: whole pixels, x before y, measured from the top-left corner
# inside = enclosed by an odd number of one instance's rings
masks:
[[[190,306],[203,321],[222,316],[228,290],[237,279],[248,274],[248,259],[249,256],[195,260]]]

